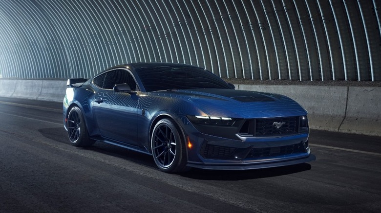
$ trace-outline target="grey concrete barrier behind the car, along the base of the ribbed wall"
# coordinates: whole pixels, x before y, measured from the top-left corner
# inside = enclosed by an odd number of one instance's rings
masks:
[[[234,85],[236,89],[286,95],[308,111],[310,127],[381,136],[381,88]],[[0,79],[0,96],[62,102],[66,81]]]

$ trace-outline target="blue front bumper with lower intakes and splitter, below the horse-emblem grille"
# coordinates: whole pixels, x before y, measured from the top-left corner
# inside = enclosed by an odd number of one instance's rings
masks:
[[[287,166],[316,160],[308,145],[308,132],[276,137],[233,140],[203,134],[186,126],[188,166],[201,169],[248,170]],[[189,134],[190,133],[190,134]]]

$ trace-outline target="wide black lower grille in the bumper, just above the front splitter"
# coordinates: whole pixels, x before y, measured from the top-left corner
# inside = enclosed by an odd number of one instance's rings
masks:
[[[264,157],[277,157],[282,155],[289,155],[295,153],[306,152],[302,143],[278,146],[278,147],[267,147],[267,148],[252,148],[246,158],[264,158]]]

